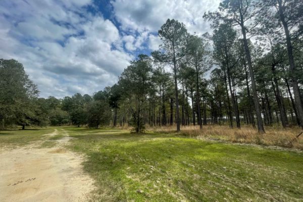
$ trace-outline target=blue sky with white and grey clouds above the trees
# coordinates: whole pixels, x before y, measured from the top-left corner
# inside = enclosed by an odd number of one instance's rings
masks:
[[[0,58],[23,64],[40,97],[111,86],[138,54],[158,49],[168,18],[193,34],[220,0],[1,0]]]

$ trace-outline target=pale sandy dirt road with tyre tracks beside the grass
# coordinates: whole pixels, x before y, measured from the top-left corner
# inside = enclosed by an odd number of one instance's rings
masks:
[[[93,180],[84,174],[83,157],[64,148],[39,148],[41,142],[0,151],[0,201],[87,201]],[[56,135],[58,130],[47,135]]]

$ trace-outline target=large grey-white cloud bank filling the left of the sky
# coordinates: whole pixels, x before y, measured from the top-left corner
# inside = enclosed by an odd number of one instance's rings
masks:
[[[23,63],[41,96],[91,94],[113,85],[133,59],[119,47],[117,27],[85,11],[89,3],[0,3],[1,58]]]

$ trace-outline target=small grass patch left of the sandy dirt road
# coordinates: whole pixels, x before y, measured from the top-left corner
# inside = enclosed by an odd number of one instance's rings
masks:
[[[53,128],[11,129],[0,131],[0,146],[22,146],[44,138]]]

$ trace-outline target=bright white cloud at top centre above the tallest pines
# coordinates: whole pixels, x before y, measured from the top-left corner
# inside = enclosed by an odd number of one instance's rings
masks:
[[[183,22],[189,32],[210,30],[202,16],[218,9],[220,0],[137,0],[112,1],[117,20],[124,30],[157,32],[168,18]]]

